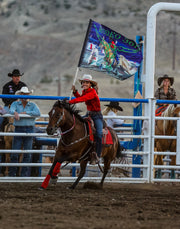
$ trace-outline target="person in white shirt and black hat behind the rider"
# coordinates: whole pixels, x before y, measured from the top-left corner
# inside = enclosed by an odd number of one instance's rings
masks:
[[[122,107],[119,106],[118,102],[111,101],[109,104],[105,105],[106,108],[103,111],[103,115],[117,116],[118,111],[123,111]],[[109,118],[106,120],[107,126],[111,128],[119,127],[124,123],[122,119]]]

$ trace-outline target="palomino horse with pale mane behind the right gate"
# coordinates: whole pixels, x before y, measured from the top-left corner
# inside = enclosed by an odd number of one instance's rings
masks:
[[[180,107],[175,104],[171,104],[162,113],[162,117],[180,117]],[[155,135],[176,135],[176,122],[174,120],[156,120],[155,123]],[[176,152],[176,140],[175,139],[155,139],[155,149],[159,152]],[[155,155],[154,164],[163,165],[163,155]],[[176,164],[176,156],[170,156],[170,165]],[[174,171],[172,171],[171,177],[174,177]],[[161,170],[158,169],[156,177],[161,177]]]

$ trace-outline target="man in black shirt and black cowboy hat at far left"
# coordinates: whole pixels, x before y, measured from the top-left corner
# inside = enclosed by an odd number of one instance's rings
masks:
[[[20,73],[19,69],[14,69],[11,73],[8,73],[8,76],[11,77],[12,80],[3,86],[2,94],[14,95],[16,91],[21,89],[21,87],[26,86],[24,82],[20,81],[22,75],[24,75],[24,73]],[[12,99],[12,98],[2,99],[2,101],[4,102],[4,109],[6,110],[6,112],[9,111],[10,105],[15,100],[16,99]],[[6,119],[0,117],[0,131],[4,131],[5,124],[6,124]]]

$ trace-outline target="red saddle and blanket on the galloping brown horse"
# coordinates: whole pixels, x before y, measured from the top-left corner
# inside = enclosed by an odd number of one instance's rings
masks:
[[[94,122],[91,117],[86,117],[85,118],[86,125],[87,125],[87,131],[89,135],[89,141],[91,143],[95,142],[95,127],[94,127]],[[111,136],[111,133],[107,127],[106,122],[103,120],[103,136],[102,136],[102,144],[105,146],[112,145],[113,144],[113,139]]]

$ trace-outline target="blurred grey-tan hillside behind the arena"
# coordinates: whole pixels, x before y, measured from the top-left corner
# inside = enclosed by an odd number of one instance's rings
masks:
[[[178,2],[171,0],[167,2]],[[60,78],[62,96],[70,95],[89,19],[102,23],[124,36],[135,39],[146,35],[146,17],[155,0],[1,0],[0,1],[0,79],[9,80],[14,68],[24,72],[23,81],[37,95],[58,95]],[[160,12],[157,20],[156,78],[180,73],[179,13]],[[174,20],[176,20],[176,68],[172,70]],[[79,77],[83,70],[79,73]],[[101,97],[133,97],[133,77],[117,81],[92,72],[100,85]],[[155,85],[156,87],[157,85]],[[78,83],[77,83],[77,87]],[[178,94],[180,98],[180,94]],[[42,102],[43,112],[51,102]],[[127,112],[130,107],[126,106]]]

